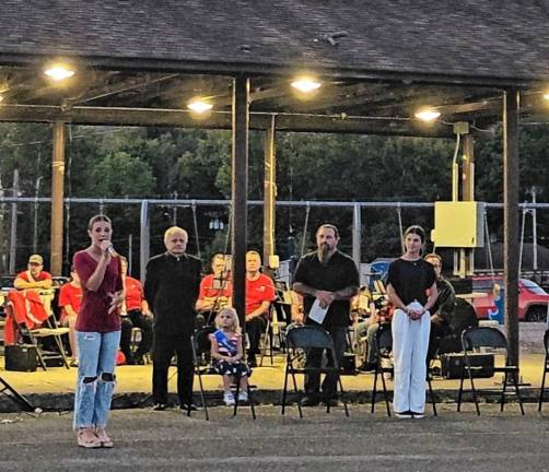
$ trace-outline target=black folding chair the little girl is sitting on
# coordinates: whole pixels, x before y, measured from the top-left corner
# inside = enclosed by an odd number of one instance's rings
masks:
[[[202,403],[202,409],[205,411],[205,415],[206,415],[207,421],[210,420],[210,414],[208,412],[206,397],[219,397],[218,393],[206,393],[205,388],[203,388],[203,381],[202,381],[203,376],[220,377],[220,375],[211,366],[211,362],[210,362],[210,353],[211,353],[210,334],[212,334],[213,332],[215,332],[214,327],[206,327],[206,328],[200,328],[200,329],[196,330],[191,337],[192,363],[195,365],[195,375],[198,377],[198,385],[200,386],[200,401]],[[238,411],[240,388],[241,388],[240,379],[236,379],[236,384],[234,387],[233,416],[236,416],[236,413]],[[252,410],[252,416],[255,420],[256,418],[256,410],[254,406],[254,398],[252,396],[252,389],[249,387],[249,382],[248,382],[247,392],[248,392],[249,408]],[[190,411],[191,411],[191,408],[189,405],[189,409],[187,410],[187,416],[190,416]]]

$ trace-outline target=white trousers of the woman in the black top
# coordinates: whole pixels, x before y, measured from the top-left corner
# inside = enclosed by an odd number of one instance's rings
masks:
[[[418,302],[412,302],[407,308],[423,307]],[[419,320],[412,320],[406,312],[396,309],[392,331],[395,363],[393,409],[397,413],[423,413],[431,316],[425,311]]]

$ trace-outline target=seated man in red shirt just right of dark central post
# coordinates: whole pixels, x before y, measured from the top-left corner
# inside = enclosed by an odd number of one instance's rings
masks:
[[[257,251],[246,252],[246,333],[249,340],[248,365],[257,367],[259,340],[267,326],[271,302],[277,297],[274,284],[259,272],[261,257]]]

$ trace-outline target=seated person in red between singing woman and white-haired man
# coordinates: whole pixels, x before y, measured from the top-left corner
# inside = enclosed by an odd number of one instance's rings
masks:
[[[121,311],[122,328],[120,333],[120,351],[126,357],[126,364],[144,364],[143,355],[152,347],[152,314],[143,296],[141,282],[128,273],[128,261],[120,257],[126,298]],[[141,329],[141,342],[135,353],[131,352],[131,330]]]

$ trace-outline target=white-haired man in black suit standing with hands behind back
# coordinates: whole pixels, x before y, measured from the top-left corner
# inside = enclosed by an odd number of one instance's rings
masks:
[[[182,410],[192,404],[192,346],[195,305],[200,287],[201,262],[186,253],[187,232],[172,226],[164,234],[166,252],[147,264],[144,297],[154,316],[152,394],[155,410],[167,406],[167,370],[177,356],[177,396]]]

